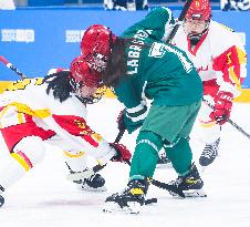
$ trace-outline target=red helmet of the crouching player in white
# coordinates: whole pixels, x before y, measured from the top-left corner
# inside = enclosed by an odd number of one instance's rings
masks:
[[[102,86],[101,74],[90,69],[83,55],[76,56],[71,62],[71,84],[74,90],[77,90],[83,85],[90,87]]]

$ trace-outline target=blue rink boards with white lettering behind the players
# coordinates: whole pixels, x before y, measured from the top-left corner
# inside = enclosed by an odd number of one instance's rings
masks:
[[[179,11],[174,11],[175,16]],[[80,54],[81,37],[90,24],[103,23],[121,34],[124,29],[147,14],[147,11],[123,12],[85,10],[82,8],[18,9],[0,13],[0,55],[7,58],[28,78],[44,76],[51,68],[69,68]],[[213,11],[212,19],[240,33],[250,53],[249,12]],[[249,64],[248,64],[248,71]],[[19,76],[0,64],[0,91]],[[250,102],[250,78],[243,83],[237,101]],[[113,96],[111,92],[107,96]]]

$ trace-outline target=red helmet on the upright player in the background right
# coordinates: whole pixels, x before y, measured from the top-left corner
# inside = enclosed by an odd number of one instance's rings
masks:
[[[194,0],[187,11],[186,19],[209,20],[211,7],[209,0]]]

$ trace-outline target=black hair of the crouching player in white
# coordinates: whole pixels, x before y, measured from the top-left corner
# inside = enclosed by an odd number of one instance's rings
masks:
[[[71,96],[71,92],[73,91],[70,76],[70,71],[61,71],[46,75],[43,79],[43,83],[48,83],[46,94],[49,94],[52,90],[54,99],[60,100],[61,103],[69,99]]]

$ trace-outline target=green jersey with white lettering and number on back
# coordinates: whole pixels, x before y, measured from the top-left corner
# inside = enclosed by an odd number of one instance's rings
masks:
[[[158,13],[163,20],[156,20]],[[201,80],[187,54],[159,41],[173,22],[169,10],[158,9],[122,34],[133,41],[126,48],[127,74],[115,93],[127,109],[145,96],[156,105],[187,105],[202,97]]]

